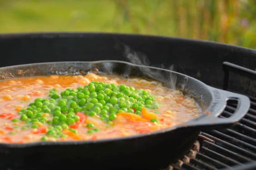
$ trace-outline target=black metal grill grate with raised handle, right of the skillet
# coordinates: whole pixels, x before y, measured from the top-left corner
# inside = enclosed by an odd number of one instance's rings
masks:
[[[231,63],[224,62],[223,67],[224,89],[228,87],[229,71],[256,76],[256,71]],[[249,98],[251,106],[244,118],[231,128],[200,132],[189,153],[166,170],[256,169],[256,97]],[[219,117],[230,117],[236,107],[236,100],[228,100]]]

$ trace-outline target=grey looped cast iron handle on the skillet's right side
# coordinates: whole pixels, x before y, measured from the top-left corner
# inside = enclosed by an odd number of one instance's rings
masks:
[[[198,121],[191,121],[187,126],[215,126],[216,125],[231,125],[238,122],[250,108],[250,99],[242,94],[232,93],[226,90],[220,90],[209,87],[212,93],[212,103],[207,109],[203,118],[198,118]],[[235,112],[229,118],[218,118],[226,107],[228,99],[236,99],[238,101]]]

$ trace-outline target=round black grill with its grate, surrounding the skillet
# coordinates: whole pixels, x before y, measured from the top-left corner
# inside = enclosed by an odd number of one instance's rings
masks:
[[[239,123],[227,129],[201,132],[191,151],[167,169],[256,169],[255,50],[143,35],[35,33],[0,35],[0,56],[0,66],[52,61],[129,61],[130,56],[137,56],[142,64],[172,66],[175,71],[207,85],[246,94],[251,99],[251,108]],[[235,109],[236,103],[230,101],[221,116],[229,117]]]

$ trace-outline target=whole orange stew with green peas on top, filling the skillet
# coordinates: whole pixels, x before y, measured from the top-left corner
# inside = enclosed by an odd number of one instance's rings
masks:
[[[193,99],[157,81],[93,73],[1,80],[0,108],[2,143],[125,137],[172,127],[201,114]]]

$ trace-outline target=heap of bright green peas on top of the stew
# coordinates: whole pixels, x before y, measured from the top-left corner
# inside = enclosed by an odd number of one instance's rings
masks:
[[[77,89],[66,89],[58,94],[56,89],[50,90],[50,99],[37,98],[30,107],[20,110],[20,119],[32,123],[32,128],[37,128],[36,122],[52,125],[48,127],[47,135],[64,137],[62,129],[69,128],[79,121],[75,113],[83,112],[87,116],[100,116],[100,119],[112,123],[116,113],[129,112],[140,115],[143,107],[149,109],[159,108],[153,96],[145,90],[128,87],[126,85],[108,84],[92,81],[89,85]],[[52,118],[44,116],[49,113]],[[16,120],[15,120],[16,121]],[[46,140],[46,137],[42,138]]]

